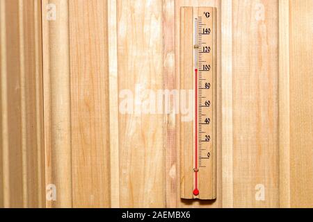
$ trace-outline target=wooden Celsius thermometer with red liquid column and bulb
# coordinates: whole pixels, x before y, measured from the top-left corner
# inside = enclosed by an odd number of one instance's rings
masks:
[[[182,7],[180,16],[180,89],[193,89],[193,120],[181,117],[181,198],[214,200],[216,8]]]

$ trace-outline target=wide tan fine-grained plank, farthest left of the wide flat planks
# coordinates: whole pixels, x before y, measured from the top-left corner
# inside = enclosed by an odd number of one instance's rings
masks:
[[[73,207],[111,206],[107,13],[107,1],[70,1]]]

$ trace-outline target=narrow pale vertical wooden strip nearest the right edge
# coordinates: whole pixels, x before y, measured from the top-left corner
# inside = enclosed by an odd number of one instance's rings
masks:
[[[290,82],[289,82],[289,1],[280,0],[280,70],[279,70],[279,130],[280,130],[280,207],[290,203]]]

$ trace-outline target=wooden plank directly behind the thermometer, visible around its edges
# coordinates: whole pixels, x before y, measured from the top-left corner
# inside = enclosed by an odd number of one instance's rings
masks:
[[[220,1],[219,0],[205,0],[205,1],[191,1],[191,0],[177,0],[175,1],[175,75],[176,77],[176,87],[179,89],[179,73],[180,73],[180,67],[179,67],[179,59],[180,59],[180,8],[182,6],[193,6],[193,7],[216,7],[217,8],[217,24],[220,24]],[[217,35],[217,76],[220,76],[220,26],[217,26],[216,30],[216,35]],[[217,101],[220,101],[220,83],[221,83],[221,78],[217,77]],[[182,200],[180,198],[180,184],[177,184],[177,207],[219,207],[221,206],[221,194],[222,194],[222,189],[221,189],[221,176],[222,176],[222,171],[221,171],[221,103],[218,103],[217,105],[217,147],[216,147],[216,155],[217,155],[217,196],[220,198],[217,198],[217,200]],[[180,117],[177,115],[177,118],[175,119],[175,124],[176,124],[176,148],[173,148],[173,144],[170,144],[170,146],[167,146],[167,150],[174,151],[176,149],[177,152],[177,173],[176,177],[177,180],[180,178],[180,157],[179,157],[179,147],[180,145],[180,131],[181,131],[181,124],[180,124]],[[166,177],[173,177],[173,174],[166,174]]]

